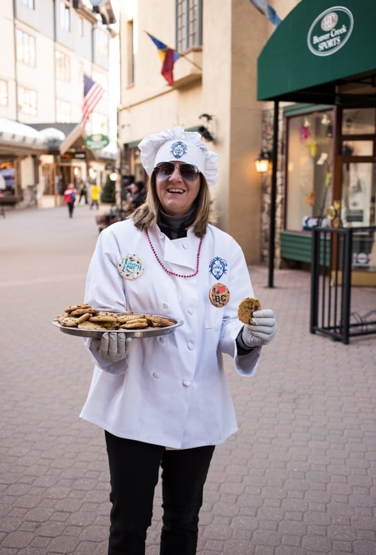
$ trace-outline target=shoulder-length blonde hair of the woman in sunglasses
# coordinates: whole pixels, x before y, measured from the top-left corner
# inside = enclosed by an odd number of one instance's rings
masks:
[[[158,214],[162,210],[162,205],[157,197],[155,181],[155,171],[153,170],[147,184],[146,200],[130,216],[136,228],[142,231],[157,223]],[[194,228],[194,234],[197,237],[203,237],[208,223],[216,223],[216,216],[212,212],[209,185],[207,185],[205,176],[200,173],[200,189],[194,200],[194,220],[190,227]]]

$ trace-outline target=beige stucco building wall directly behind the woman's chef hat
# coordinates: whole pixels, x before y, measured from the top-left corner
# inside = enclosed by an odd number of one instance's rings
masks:
[[[280,17],[297,3],[281,0]],[[237,239],[248,262],[262,262],[267,215],[255,159],[267,105],[257,101],[257,56],[273,24],[243,0],[223,0],[220,9],[217,0],[129,1],[120,18],[123,173],[141,177],[137,144],[144,135],[177,125],[205,128],[207,147],[219,153],[219,181],[212,188],[218,225]],[[172,86],[147,33],[181,54]]]

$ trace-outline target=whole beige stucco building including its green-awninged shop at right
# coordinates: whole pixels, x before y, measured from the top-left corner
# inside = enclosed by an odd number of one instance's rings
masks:
[[[336,12],[329,0],[270,0],[277,15],[274,19],[243,0],[223,0],[220,9],[216,0],[123,3],[121,173],[146,178],[137,144],[148,133],[176,125],[200,130],[208,148],[220,155],[219,182],[212,191],[219,226],[237,239],[250,264],[268,264],[271,257],[280,266],[305,264],[310,256],[311,226],[327,219],[338,198],[342,200],[342,225],[375,225],[375,91],[368,90],[366,105],[358,94],[345,111],[336,105],[334,96],[325,100],[311,94],[305,101],[304,95],[285,95],[278,99],[277,114],[273,87],[271,94],[268,87],[265,94],[259,94],[265,81],[277,86],[299,76],[314,78],[317,89],[321,82],[332,80],[337,62],[347,65],[349,77],[358,69],[361,73],[352,49],[364,22],[376,18],[373,2],[366,2],[368,9],[362,10],[359,2],[343,0]],[[309,33],[321,45],[317,46],[321,56],[314,53],[315,44],[309,49]],[[150,35],[180,55],[173,65],[172,84],[161,74],[162,61]],[[300,42],[290,47],[296,37]],[[364,39],[361,58],[369,60],[370,37]],[[270,53],[268,59],[264,51]],[[307,53],[318,60],[313,74],[298,65]],[[267,76],[260,67],[266,61]],[[367,78],[369,85],[372,76]],[[361,92],[361,80],[357,86]],[[355,148],[358,156],[343,160],[343,173],[338,169],[342,148],[352,148],[353,154]],[[266,173],[255,169],[260,151],[274,160],[274,167],[269,163]],[[346,153],[350,155],[350,150]],[[368,165],[360,167],[359,162]],[[356,170],[361,172],[357,178]],[[350,189],[345,182],[353,182]],[[271,219],[275,224],[273,252]],[[298,254],[291,237],[302,244]],[[368,265],[372,265],[368,255]]]

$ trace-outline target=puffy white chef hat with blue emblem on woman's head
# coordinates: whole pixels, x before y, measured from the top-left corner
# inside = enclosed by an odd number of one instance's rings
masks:
[[[208,185],[215,185],[218,176],[216,160],[219,157],[209,151],[200,133],[185,131],[181,126],[164,129],[155,135],[148,135],[138,146],[141,162],[148,176],[160,162],[186,162],[194,164],[205,176]]]

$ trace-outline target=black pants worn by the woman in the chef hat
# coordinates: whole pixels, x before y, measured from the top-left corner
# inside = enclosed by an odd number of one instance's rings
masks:
[[[198,513],[214,446],[166,450],[105,432],[112,509],[108,555],[144,555],[162,468],[160,555],[196,554]]]

